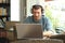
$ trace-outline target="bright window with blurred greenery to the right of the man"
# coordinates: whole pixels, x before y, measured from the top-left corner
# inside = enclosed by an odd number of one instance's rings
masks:
[[[48,1],[46,4],[46,15],[50,17],[53,28],[63,30],[65,29],[65,2]],[[64,31],[65,32],[65,31]]]

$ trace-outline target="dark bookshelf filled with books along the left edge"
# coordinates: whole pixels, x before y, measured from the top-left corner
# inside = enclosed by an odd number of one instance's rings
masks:
[[[2,0],[1,0],[2,1]],[[4,0],[2,2],[0,2],[0,19],[1,19],[1,25],[3,27],[0,27],[0,29],[4,29],[5,28],[5,22],[10,20],[10,8],[11,8],[11,3],[10,0]]]

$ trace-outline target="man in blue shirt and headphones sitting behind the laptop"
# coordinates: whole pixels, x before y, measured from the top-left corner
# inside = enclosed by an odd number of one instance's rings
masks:
[[[41,24],[43,26],[43,35],[51,37],[54,33],[52,25],[43,14],[43,9],[39,4],[32,5],[31,9],[32,16],[28,16],[24,23],[26,24]]]

